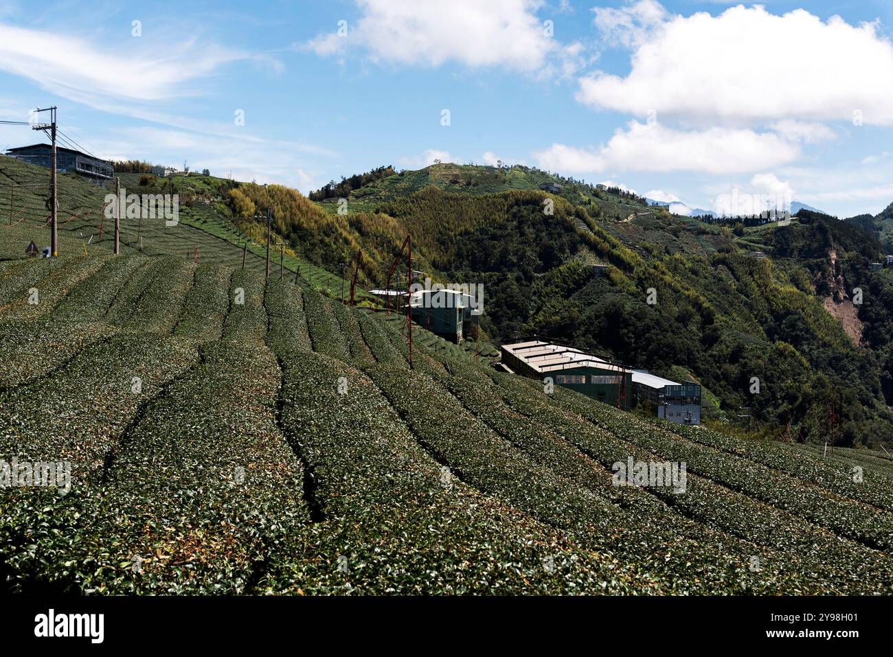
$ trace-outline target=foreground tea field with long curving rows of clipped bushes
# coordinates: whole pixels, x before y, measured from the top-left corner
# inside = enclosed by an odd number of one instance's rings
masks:
[[[411,368],[394,316],[232,265],[0,262],[0,461],[71,463],[0,490],[6,591],[893,592],[884,453],[643,420],[421,328]],[[614,486],[630,457],[685,491]]]

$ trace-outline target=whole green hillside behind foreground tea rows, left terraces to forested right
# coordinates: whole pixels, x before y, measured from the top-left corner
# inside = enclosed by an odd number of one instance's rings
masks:
[[[8,158],[0,173],[46,180],[46,170]],[[135,193],[169,184],[145,174],[124,174],[122,183]],[[561,188],[543,191],[545,183]],[[384,287],[411,231],[415,269],[484,286],[488,345],[536,334],[671,378],[684,370],[710,391],[716,421],[729,428],[746,406],[764,437],[790,428],[800,442],[877,446],[893,436],[893,279],[870,270],[884,247],[857,222],[814,212],[787,226],[706,222],[522,166],[382,167],[314,193],[325,196],[318,203],[282,186],[192,175],[173,184],[179,225],[129,220],[123,253],[194,260],[197,248],[199,264],[238,269],[247,239],[246,269],[263,271],[265,226],[254,217],[272,208],[274,244],[286,244],[283,278],[297,273],[338,297],[349,287],[339,274],[361,249],[359,287]],[[18,200],[9,189],[0,179],[0,214],[7,203],[13,210],[12,228],[0,227],[14,237],[6,258],[21,257],[35,236],[46,241],[46,187]],[[84,242],[88,253],[108,252],[108,226],[98,235],[105,192],[61,177],[68,253],[82,254]],[[600,276],[597,263],[609,265]],[[862,304],[852,303],[855,288]]]

